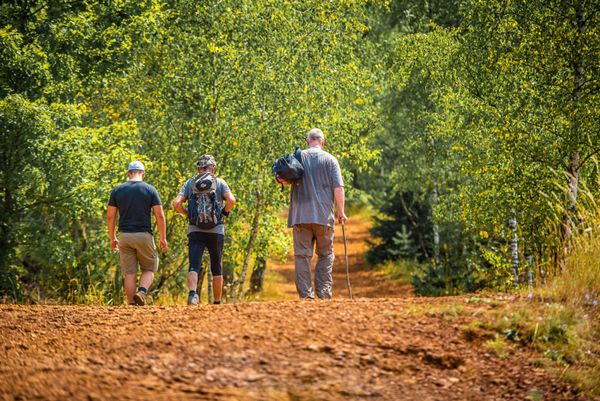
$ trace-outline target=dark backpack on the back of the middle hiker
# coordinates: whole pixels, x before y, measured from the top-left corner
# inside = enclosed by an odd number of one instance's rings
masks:
[[[217,177],[209,172],[193,178],[192,194],[188,199],[190,224],[203,229],[223,224],[221,207],[217,201]]]

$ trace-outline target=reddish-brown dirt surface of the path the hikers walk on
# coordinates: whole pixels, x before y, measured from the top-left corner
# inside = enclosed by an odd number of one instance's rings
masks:
[[[348,228],[353,301],[338,260],[332,301],[0,305],[0,399],[585,399],[526,352],[499,358],[465,335],[469,315],[508,301],[407,297],[406,285],[365,269],[364,227]],[[378,295],[397,298],[366,298]]]

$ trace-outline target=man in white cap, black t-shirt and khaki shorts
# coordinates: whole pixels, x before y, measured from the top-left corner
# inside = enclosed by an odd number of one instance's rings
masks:
[[[144,165],[139,161],[129,163],[127,182],[110,193],[106,220],[110,247],[119,252],[121,271],[124,275],[125,294],[129,305],[146,304],[148,289],[158,270],[158,257],[152,236],[152,218],[160,235],[160,248],[167,252],[165,214],[156,188],[144,182]],[[119,213],[119,239],[115,237],[115,220]],[[142,274],[136,292],[137,265]]]

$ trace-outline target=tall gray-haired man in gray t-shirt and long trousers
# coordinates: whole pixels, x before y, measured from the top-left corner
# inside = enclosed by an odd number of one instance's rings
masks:
[[[304,175],[292,186],[288,227],[294,233],[296,290],[301,299],[319,299],[332,295],[333,205],[337,220],[344,223],[344,182],[337,159],[323,150],[323,131],[313,128],[306,137],[308,148],[301,152]],[[310,262],[316,244],[317,265],[313,290]]]

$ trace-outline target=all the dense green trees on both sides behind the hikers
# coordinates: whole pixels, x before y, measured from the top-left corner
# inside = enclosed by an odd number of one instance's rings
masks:
[[[351,200],[362,191],[381,210],[374,261],[416,260],[435,293],[560,266],[587,207],[581,187],[588,199],[599,191],[599,9],[5,2],[0,296],[121,302],[104,214],[133,159],[167,211],[155,295],[181,291],[186,222],[170,202],[204,153],[239,201],[224,262],[241,296],[254,260],[288,248],[278,216],[288,192],[270,165],[314,126]]]

